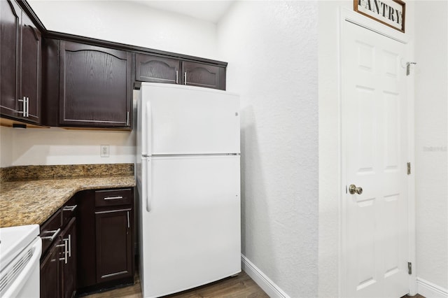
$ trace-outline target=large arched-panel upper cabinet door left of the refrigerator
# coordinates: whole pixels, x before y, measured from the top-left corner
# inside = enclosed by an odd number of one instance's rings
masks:
[[[61,41],[59,124],[130,127],[131,54]]]

